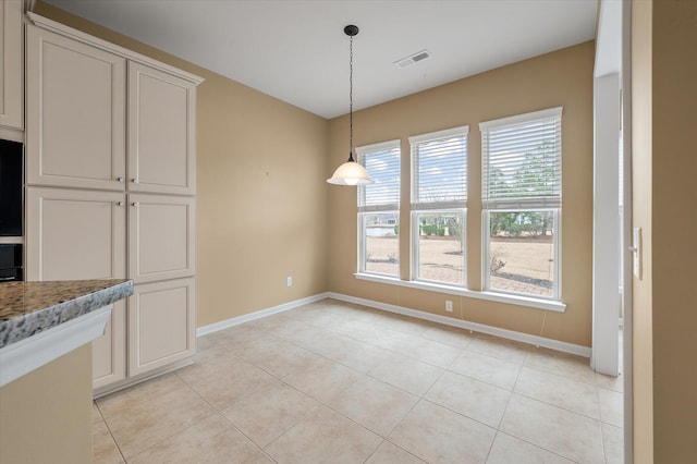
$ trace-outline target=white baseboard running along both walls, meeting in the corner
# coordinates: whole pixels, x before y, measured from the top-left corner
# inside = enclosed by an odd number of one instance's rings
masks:
[[[357,305],[368,306],[375,309],[381,309],[389,313],[401,314],[404,316],[415,317],[417,319],[430,320],[432,322],[443,323],[445,326],[458,327],[461,329],[472,330],[475,332],[488,333],[490,335],[500,337],[502,339],[514,340],[516,342],[527,343],[535,346],[543,346],[550,350],[555,350],[562,353],[575,354],[578,356],[590,357],[590,349],[587,346],[577,345],[574,343],[561,342],[559,340],[547,339],[545,337],[530,335],[529,333],[516,332],[513,330],[500,329],[493,326],[487,326],[478,322],[469,322],[467,320],[452,319],[450,317],[439,316],[437,314],[425,313],[416,309],[405,308],[402,306],[390,305],[387,303],[380,303],[372,300],[358,298],[356,296],[344,295],[342,293],[325,292],[317,295],[308,296],[306,298],[295,300],[293,302],[284,303],[282,305],[272,306],[267,309],[261,309],[255,313],[245,314],[244,316],[237,316],[230,319],[221,320],[220,322],[211,323],[209,326],[199,327],[196,329],[196,337],[206,335],[208,333],[217,332],[219,330],[228,329],[230,327],[239,326],[252,320],[261,319],[262,317],[271,316],[278,313],[283,313],[289,309],[318,302],[325,298],[339,300],[346,303],[354,303]]]

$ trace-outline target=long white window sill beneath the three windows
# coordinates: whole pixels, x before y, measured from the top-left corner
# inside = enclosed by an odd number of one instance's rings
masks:
[[[354,277],[356,279],[366,280],[369,282],[386,283],[389,285],[408,286],[409,289],[448,293],[451,295],[465,296],[468,298],[487,300],[490,302],[505,303],[510,305],[525,306],[525,307],[531,307],[531,308],[545,309],[545,310],[553,310],[557,313],[564,313],[566,310],[566,304],[562,302],[535,298],[531,296],[510,295],[505,293],[496,293],[496,292],[478,292],[474,290],[460,289],[460,288],[450,286],[450,285],[441,285],[438,283],[400,280],[393,277],[376,276],[376,274],[368,274],[368,273],[354,273]]]

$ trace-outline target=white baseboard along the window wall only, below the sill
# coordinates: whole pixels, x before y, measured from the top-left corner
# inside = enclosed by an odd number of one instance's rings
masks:
[[[387,303],[375,302],[372,300],[358,298],[355,296],[344,295],[341,293],[329,292],[328,297],[342,302],[354,303],[357,305],[369,306],[376,309],[396,313],[404,316],[415,317],[417,319],[430,320],[432,322],[443,323],[445,326],[458,327],[475,332],[488,333],[490,335],[500,337],[502,339],[514,340],[535,346],[543,346],[550,350],[575,354],[578,356],[590,357],[590,349],[574,343],[561,342],[559,340],[547,339],[545,337],[530,335],[529,333],[516,332],[513,330],[500,329],[493,326],[487,326],[478,322],[469,322],[467,320],[453,319],[450,317],[439,316],[437,314],[425,313],[416,309],[405,308],[402,306],[390,305]]]

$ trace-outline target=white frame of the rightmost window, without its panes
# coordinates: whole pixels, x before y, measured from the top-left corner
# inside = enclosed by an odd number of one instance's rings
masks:
[[[492,293],[492,294],[510,294],[522,297],[535,297],[540,300],[548,300],[552,302],[560,302],[562,298],[562,188],[563,188],[563,176],[562,176],[562,162],[563,162],[563,152],[562,152],[562,113],[563,108],[550,108],[547,110],[533,111],[523,114],[516,114],[508,118],[501,118],[497,120],[486,121],[479,123],[479,130],[481,133],[481,288],[484,292]],[[489,179],[487,178],[488,172],[488,159],[489,159],[489,144],[486,141],[486,137],[489,135],[490,130],[498,130],[503,127],[511,127],[519,124],[531,123],[535,121],[542,120],[558,120],[559,129],[555,134],[557,144],[559,147],[559,160],[555,161],[559,163],[559,194],[553,197],[539,197],[539,198],[522,198],[522,197],[511,197],[506,199],[499,199],[499,205],[497,206],[496,199],[487,198],[488,191],[486,186],[488,186]],[[490,215],[491,212],[545,212],[551,211],[553,213],[554,228],[552,230],[553,237],[553,253],[554,253],[554,268],[553,268],[553,286],[552,286],[552,295],[535,295],[526,292],[513,292],[513,291],[504,291],[499,289],[491,288],[491,255],[490,255],[490,246],[491,246],[491,236],[490,236]]]

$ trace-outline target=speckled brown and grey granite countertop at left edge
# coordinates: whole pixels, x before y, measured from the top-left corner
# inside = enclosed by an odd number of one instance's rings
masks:
[[[0,283],[0,349],[132,294],[123,279]]]

